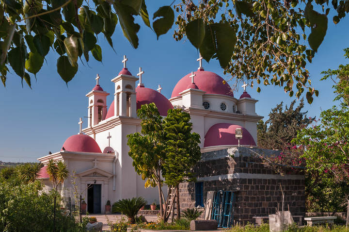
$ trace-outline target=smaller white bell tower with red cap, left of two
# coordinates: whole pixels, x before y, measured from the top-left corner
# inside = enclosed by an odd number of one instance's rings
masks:
[[[105,92],[99,85],[99,78],[99,74],[97,74],[95,87],[86,94],[88,97],[88,127],[97,125],[107,115],[107,96],[109,93]]]

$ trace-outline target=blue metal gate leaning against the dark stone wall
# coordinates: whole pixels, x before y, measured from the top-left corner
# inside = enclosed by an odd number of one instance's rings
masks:
[[[230,191],[216,191],[213,196],[211,219],[218,227],[229,228],[234,219],[235,195]]]

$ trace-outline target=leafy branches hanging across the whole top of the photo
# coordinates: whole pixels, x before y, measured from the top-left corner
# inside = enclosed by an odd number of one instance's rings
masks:
[[[31,86],[28,73],[40,71],[49,50],[60,55],[57,72],[68,83],[77,73],[79,59],[84,64],[82,59],[88,62],[92,54],[95,60],[102,60],[98,35],[103,34],[113,48],[118,23],[131,46],[138,48],[141,25],[135,20],[140,17],[158,39],[175,23],[176,40],[187,36],[207,62],[218,59],[232,78],[250,80],[252,87],[255,82],[283,86],[291,97],[296,87],[297,98],[306,90],[308,102],[318,92],[311,87],[305,66],[326,35],[327,15],[336,10],[333,22],[338,23],[349,12],[349,0],[333,0],[326,10],[324,0],[307,4],[298,0],[198,0],[197,4],[181,0],[165,6],[159,1],[151,22],[145,0],[0,2],[0,78],[4,85],[11,67]],[[313,5],[322,6],[323,13]],[[173,8],[178,12],[176,20]],[[311,29],[308,36],[306,27]],[[310,48],[304,45],[307,43]]]

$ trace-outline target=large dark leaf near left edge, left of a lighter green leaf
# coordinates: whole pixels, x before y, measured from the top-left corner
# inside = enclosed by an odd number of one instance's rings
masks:
[[[10,65],[20,78],[23,78],[24,76],[26,56],[27,49],[25,45],[13,48],[8,52],[8,60],[10,62]]]

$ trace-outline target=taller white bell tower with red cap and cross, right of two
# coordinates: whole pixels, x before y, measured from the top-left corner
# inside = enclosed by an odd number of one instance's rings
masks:
[[[126,67],[127,58],[122,60],[124,68],[119,75],[111,80],[115,84],[114,93],[114,116],[136,117],[136,81]]]

